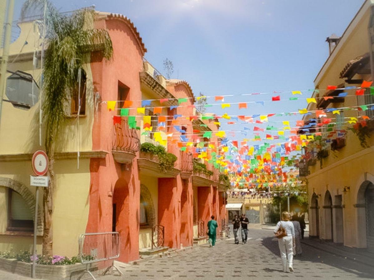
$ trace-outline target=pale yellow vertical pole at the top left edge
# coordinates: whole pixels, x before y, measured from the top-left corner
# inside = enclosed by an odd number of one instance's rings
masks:
[[[5,2],[5,1],[2,1]],[[10,34],[12,31],[12,21],[13,21],[13,12],[14,12],[14,0],[8,0],[8,16],[5,23],[5,34],[4,34],[4,48],[3,48],[3,57],[1,58],[1,69],[0,69],[0,127],[1,127],[1,108],[3,107],[3,96],[6,85],[6,68],[8,65],[9,57],[9,45],[10,45]],[[2,3],[1,5],[4,5]],[[4,12],[5,15],[5,12]],[[0,26],[2,29],[2,26]]]

